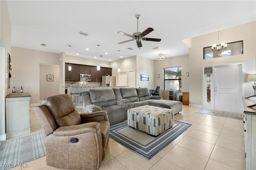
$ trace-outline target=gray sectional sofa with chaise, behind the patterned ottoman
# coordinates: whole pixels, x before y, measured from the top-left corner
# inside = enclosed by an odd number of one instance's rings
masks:
[[[106,110],[110,125],[127,120],[127,110],[151,105],[173,109],[174,114],[182,111],[182,102],[161,100],[152,96],[148,88],[102,88],[82,92],[84,112]]]

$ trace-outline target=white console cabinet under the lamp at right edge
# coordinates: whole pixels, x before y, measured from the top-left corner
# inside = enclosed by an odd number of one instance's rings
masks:
[[[256,98],[242,98],[244,107],[244,145],[246,170],[256,170]]]

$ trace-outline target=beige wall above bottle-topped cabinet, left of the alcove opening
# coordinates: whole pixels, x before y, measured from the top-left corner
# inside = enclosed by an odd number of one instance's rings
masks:
[[[40,64],[59,64],[59,54],[12,47],[12,78],[10,87],[23,87],[31,95],[30,104],[40,101]]]

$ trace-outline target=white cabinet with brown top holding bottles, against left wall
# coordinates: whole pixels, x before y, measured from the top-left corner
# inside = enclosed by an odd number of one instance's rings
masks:
[[[6,138],[30,133],[30,94],[10,93],[6,101]]]

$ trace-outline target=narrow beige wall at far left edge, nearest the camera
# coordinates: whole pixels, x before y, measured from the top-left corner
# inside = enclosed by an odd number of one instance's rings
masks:
[[[5,135],[5,96],[10,93],[6,88],[8,82],[7,57],[11,55],[11,22],[6,0],[0,1],[0,141],[6,139]],[[11,79],[12,80],[12,79]]]

